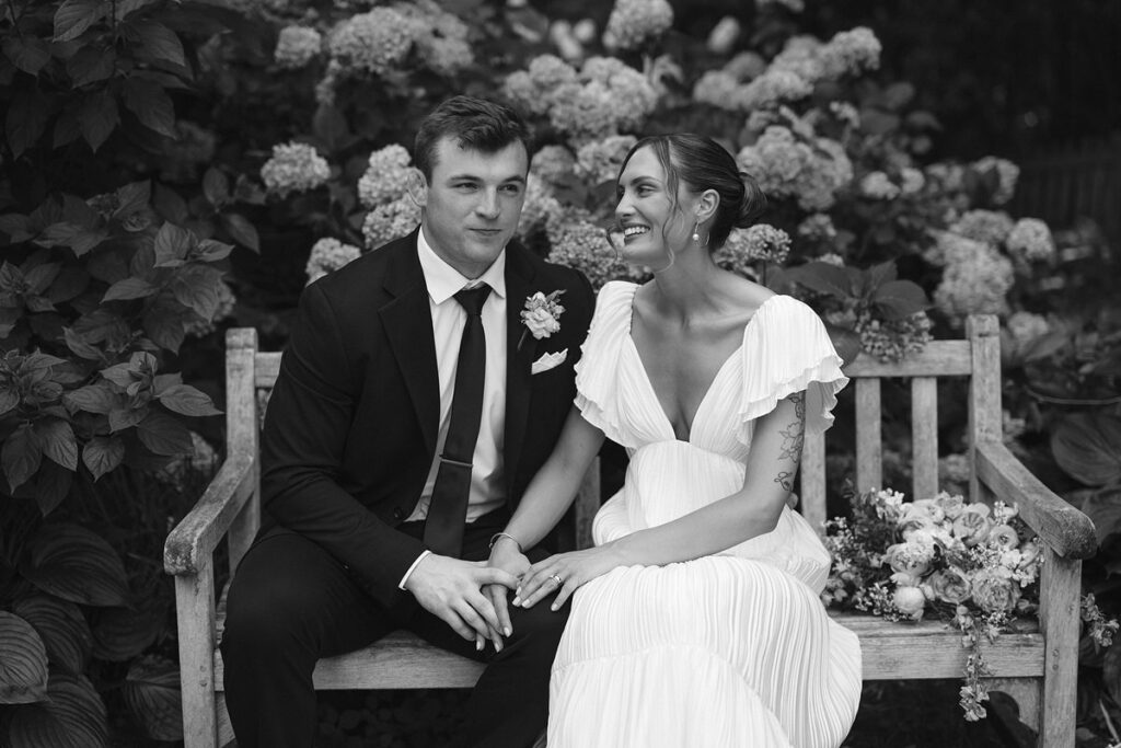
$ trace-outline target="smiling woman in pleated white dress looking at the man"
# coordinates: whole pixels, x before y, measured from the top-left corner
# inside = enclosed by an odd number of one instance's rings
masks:
[[[490,563],[522,574],[512,604],[572,598],[548,746],[839,746],[860,646],[825,613],[828,554],[788,499],[842,361],[809,307],[713,261],[762,200],[715,141],[640,141],[618,195],[621,255],[655,278],[600,292],[560,441],[492,541]],[[530,566],[520,548],[560,518],[604,436],[630,463],[595,546]],[[503,620],[506,590],[488,592]]]

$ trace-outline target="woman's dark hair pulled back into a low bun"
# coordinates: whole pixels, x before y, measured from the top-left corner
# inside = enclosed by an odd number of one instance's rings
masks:
[[[684,183],[693,193],[715,190],[720,205],[708,229],[708,250],[719,249],[732,229],[745,229],[767,204],[759,184],[747,172],[740,170],[732,154],[712,138],[693,132],[674,132],[642,138],[628,151],[627,163],[640,148],[654,149],[661,168],[666,170],[666,190],[677,209],[677,187]]]

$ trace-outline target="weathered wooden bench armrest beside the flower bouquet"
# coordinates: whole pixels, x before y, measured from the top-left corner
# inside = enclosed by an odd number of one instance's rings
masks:
[[[1044,486],[1001,442],[980,442],[974,469],[998,498],[1019,507],[1023,521],[1056,554],[1064,558],[1088,558],[1097,551],[1090,517]]]

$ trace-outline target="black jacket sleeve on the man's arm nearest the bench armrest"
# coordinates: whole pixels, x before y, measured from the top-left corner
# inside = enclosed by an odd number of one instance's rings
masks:
[[[261,497],[282,526],[327,550],[391,606],[424,552],[339,484],[356,378],[323,284],[304,292],[261,434]]]

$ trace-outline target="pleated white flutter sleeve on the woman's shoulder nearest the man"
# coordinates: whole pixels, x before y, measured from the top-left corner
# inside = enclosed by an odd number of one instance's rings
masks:
[[[595,315],[576,363],[576,407],[587,423],[623,446],[629,444],[620,428],[619,357],[630,335],[636,288],[632,283],[614,280],[600,289]]]

